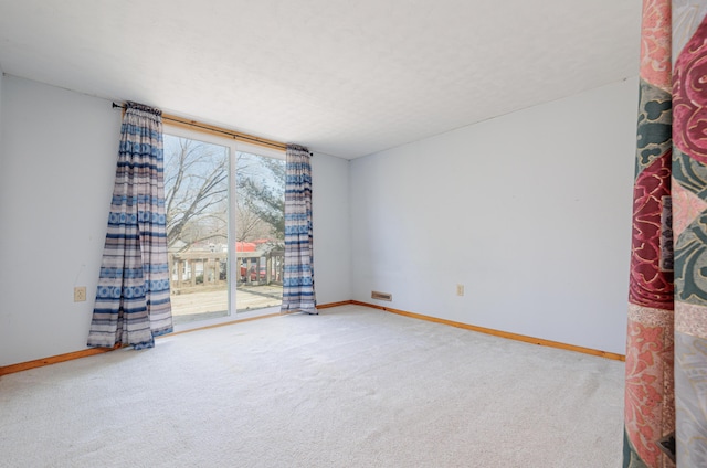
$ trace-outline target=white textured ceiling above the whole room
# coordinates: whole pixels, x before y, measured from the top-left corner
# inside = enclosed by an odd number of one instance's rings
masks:
[[[10,75],[356,158],[636,76],[637,0],[0,0]]]

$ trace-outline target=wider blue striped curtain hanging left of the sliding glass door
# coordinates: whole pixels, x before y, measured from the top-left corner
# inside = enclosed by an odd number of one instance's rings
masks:
[[[89,347],[152,348],[172,331],[161,111],[127,103]]]

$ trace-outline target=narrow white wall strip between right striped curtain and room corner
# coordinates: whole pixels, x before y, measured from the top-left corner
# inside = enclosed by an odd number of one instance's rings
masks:
[[[315,153],[312,211],[317,304],[351,298],[349,161]]]

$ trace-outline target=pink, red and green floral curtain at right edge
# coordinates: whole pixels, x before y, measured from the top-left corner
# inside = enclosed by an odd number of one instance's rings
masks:
[[[706,18],[643,3],[624,468],[707,467]]]

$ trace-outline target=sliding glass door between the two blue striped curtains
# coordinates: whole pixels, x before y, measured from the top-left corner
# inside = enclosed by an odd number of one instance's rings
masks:
[[[166,128],[167,244],[177,327],[276,311],[284,187],[278,151]]]

